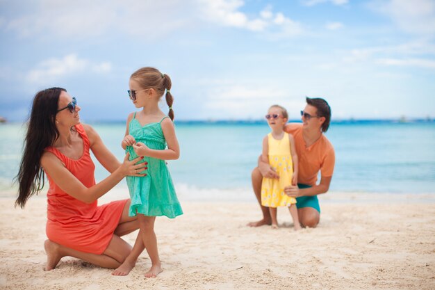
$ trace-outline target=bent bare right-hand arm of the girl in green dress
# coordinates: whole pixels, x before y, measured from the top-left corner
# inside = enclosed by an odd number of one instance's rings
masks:
[[[150,149],[145,144],[138,142],[136,144],[133,144],[133,148],[138,156],[149,156],[162,160],[179,159],[180,147],[177,140],[177,135],[175,135],[175,128],[172,120],[170,120],[170,118],[166,118],[161,122],[161,126],[163,130],[163,136],[165,136],[165,140],[167,143],[167,149],[154,150]]]

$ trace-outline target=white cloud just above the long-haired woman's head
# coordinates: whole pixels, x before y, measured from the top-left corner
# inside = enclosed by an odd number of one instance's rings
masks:
[[[42,61],[38,67],[28,72],[27,80],[31,83],[44,84],[87,70],[96,73],[109,72],[111,64],[91,63],[86,59],[78,58],[76,54],[69,54],[60,59],[50,58]]]

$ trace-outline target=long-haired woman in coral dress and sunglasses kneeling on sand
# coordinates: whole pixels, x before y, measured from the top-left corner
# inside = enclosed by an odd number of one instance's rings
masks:
[[[80,123],[80,107],[63,88],[49,88],[35,95],[24,140],[24,154],[17,175],[19,195],[15,205],[24,207],[31,195],[49,180],[47,192],[47,271],[62,257],[71,256],[101,266],[117,268],[131,252],[120,236],[138,229],[129,217],[130,200],[97,205],[126,175],[143,176],[140,157],[123,163],[110,153],[92,127]],[[90,150],[111,174],[95,184]]]

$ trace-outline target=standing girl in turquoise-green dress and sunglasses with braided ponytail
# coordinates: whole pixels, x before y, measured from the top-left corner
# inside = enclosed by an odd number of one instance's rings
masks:
[[[113,271],[113,275],[128,275],[144,248],[151,259],[151,268],[145,273],[145,277],[156,277],[161,273],[163,268],[158,257],[154,233],[156,216],[175,218],[183,214],[166,166],[166,160],[178,159],[180,156],[179,143],[172,123],[174,99],[170,93],[171,86],[170,77],[154,67],[142,67],[130,77],[130,99],[136,108],[142,109],[131,113],[127,118],[122,148],[129,152],[130,159],[142,157],[142,162],[145,162],[147,167],[141,171],[145,173],[144,177],[126,179],[131,196],[129,216],[138,216],[140,229],[131,254]],[[169,106],[167,115],[158,107],[165,90]]]

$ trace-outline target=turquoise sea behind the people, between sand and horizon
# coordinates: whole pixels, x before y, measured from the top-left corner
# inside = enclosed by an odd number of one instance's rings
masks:
[[[92,126],[122,160],[125,124]],[[15,192],[24,129],[24,124],[0,125],[0,196]],[[250,172],[269,132],[265,122],[176,122],[176,130],[181,157],[168,163],[185,194],[250,191]],[[333,122],[326,136],[336,150],[330,191],[435,193],[435,122]],[[97,166],[97,181],[107,175]],[[117,188],[126,188],[125,182]]]

